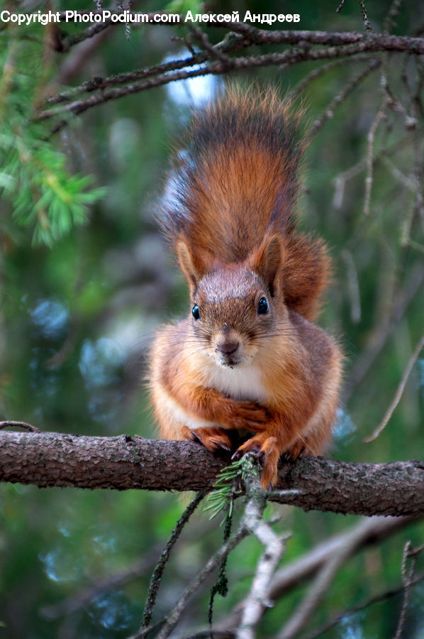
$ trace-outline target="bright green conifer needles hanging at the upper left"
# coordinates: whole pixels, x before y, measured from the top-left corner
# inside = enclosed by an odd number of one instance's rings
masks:
[[[84,224],[89,204],[105,191],[87,192],[90,176],[70,175],[66,155],[46,140],[48,129],[31,122],[52,65],[42,53],[42,27],[29,42],[16,29],[2,32],[0,48],[0,194],[11,201],[13,219],[30,226],[34,243],[51,245]]]

